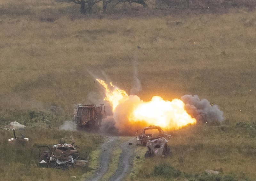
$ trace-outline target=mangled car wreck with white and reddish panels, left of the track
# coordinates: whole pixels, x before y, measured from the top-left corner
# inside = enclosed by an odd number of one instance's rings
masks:
[[[72,165],[85,166],[88,162],[87,154],[81,158],[74,143],[57,144],[51,149],[48,146],[39,146],[38,148],[42,167],[68,169]]]

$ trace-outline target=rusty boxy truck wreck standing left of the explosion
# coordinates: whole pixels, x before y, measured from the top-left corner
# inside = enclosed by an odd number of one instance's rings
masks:
[[[79,104],[74,106],[75,125],[80,128],[98,129],[101,126],[101,120],[105,117],[105,106],[96,106],[95,104]]]

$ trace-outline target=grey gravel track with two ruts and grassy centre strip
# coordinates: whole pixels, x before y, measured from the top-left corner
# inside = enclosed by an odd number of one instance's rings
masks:
[[[120,181],[128,175],[132,169],[132,163],[134,158],[134,143],[129,145],[129,142],[134,142],[134,137],[121,137],[111,136],[108,137],[108,141],[101,145],[102,152],[99,157],[100,167],[94,172],[94,175],[89,180],[100,181],[104,177],[104,174],[108,171],[109,164],[111,164],[111,156],[116,148],[121,149],[122,152],[118,158],[118,166],[114,172],[110,174],[107,180]],[[104,179],[106,180],[106,178]]]

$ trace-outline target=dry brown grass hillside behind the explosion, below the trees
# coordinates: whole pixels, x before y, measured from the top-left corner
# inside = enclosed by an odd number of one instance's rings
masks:
[[[198,94],[232,121],[253,121],[254,16],[240,11],[54,22],[2,16],[1,107],[59,105],[72,112],[71,106],[87,102],[89,94],[103,96],[87,70],[100,77],[104,71],[129,92],[136,60],[143,99]]]

